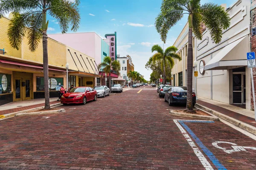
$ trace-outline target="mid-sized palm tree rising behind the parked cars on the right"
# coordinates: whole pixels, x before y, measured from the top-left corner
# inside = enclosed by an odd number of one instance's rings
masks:
[[[174,59],[181,60],[180,56],[176,54],[178,49],[175,46],[170,46],[163,51],[163,48],[160,45],[153,45],[151,48],[152,53],[156,51],[152,57],[149,58],[148,64],[162,62],[163,63],[163,84],[166,84],[166,63],[168,63],[171,68],[174,66]],[[162,77],[161,77],[162,78]]]

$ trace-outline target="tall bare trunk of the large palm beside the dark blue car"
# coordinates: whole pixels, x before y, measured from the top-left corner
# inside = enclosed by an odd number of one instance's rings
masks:
[[[186,111],[193,111],[192,78],[193,78],[193,47],[192,47],[192,14],[189,15],[189,44],[187,58],[187,104]]]

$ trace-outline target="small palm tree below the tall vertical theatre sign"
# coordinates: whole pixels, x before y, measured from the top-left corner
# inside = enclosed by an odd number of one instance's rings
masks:
[[[108,86],[111,92],[111,68],[112,71],[115,71],[118,75],[119,75],[119,70],[121,68],[121,65],[118,61],[113,61],[111,62],[111,58],[110,57],[105,57],[103,59],[103,62],[99,64],[99,68],[103,68],[103,71],[105,72],[105,75],[107,76],[108,74]]]

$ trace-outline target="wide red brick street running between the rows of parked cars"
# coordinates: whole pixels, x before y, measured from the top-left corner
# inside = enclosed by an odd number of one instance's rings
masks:
[[[151,86],[60,108],[66,112],[43,115],[48,119],[27,116],[0,121],[1,170],[203,170],[207,162],[213,169],[256,169],[255,140],[222,122],[177,121],[203,153],[198,157],[174,122],[184,118],[166,110],[185,106],[170,107]],[[252,148],[226,153],[212,145],[218,141]],[[227,150],[233,149],[231,145],[218,144]]]

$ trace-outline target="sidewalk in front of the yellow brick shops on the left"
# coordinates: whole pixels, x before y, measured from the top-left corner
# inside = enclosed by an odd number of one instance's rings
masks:
[[[58,98],[50,98],[50,105],[60,103],[57,101]],[[33,108],[43,107],[44,99],[33,99],[33,100],[24,100],[20,102],[11,102],[6,105],[0,106],[0,115],[8,113],[16,113],[20,111],[25,111]]]

